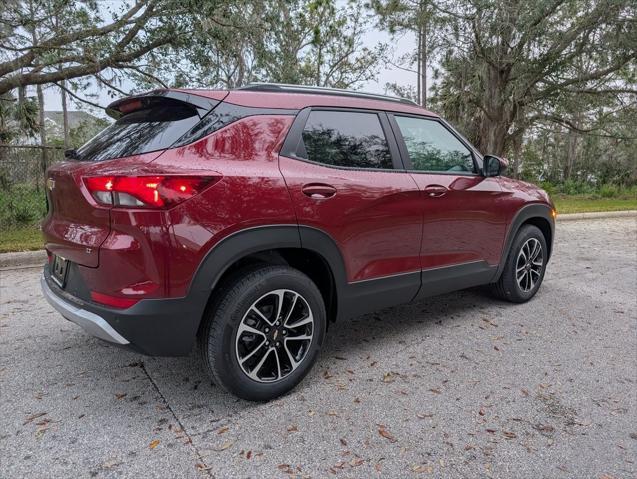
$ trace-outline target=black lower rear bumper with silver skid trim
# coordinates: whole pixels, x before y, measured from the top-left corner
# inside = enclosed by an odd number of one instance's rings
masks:
[[[91,336],[149,356],[186,356],[197,335],[207,298],[143,299],[127,309],[85,301],[58,287],[48,265],[40,280],[46,300]]]

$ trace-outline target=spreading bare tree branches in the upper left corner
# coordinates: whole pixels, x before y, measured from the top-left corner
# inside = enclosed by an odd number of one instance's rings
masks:
[[[0,11],[0,94],[105,69],[143,74],[141,58],[184,41],[189,27],[180,15],[194,8],[176,0],[137,0],[113,8],[94,1],[9,1]],[[210,8],[214,2],[203,3]],[[66,28],[51,28],[51,19],[62,16]]]

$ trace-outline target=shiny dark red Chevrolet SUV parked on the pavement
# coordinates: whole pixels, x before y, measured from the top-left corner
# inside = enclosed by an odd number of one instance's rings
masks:
[[[160,90],[47,174],[42,289],[132,350],[187,355],[267,400],[316,361],[330,321],[491,285],[524,302],[555,210],[403,99],[256,84]]]

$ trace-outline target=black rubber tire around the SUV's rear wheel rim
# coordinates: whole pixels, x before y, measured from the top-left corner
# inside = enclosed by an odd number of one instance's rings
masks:
[[[248,308],[264,294],[277,289],[289,289],[305,298],[314,317],[314,335],[296,370],[279,381],[259,383],[250,379],[237,361],[236,334]],[[320,291],[306,275],[285,266],[265,266],[237,278],[217,306],[210,318],[217,322],[217,327],[208,330],[207,360],[215,379],[225,389],[243,399],[266,401],[293,389],[311,370],[325,337],[326,314]]]

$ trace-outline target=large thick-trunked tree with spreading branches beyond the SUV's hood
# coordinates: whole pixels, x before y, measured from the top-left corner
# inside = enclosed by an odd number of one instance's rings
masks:
[[[592,131],[572,105],[635,107],[636,7],[629,0],[440,0],[450,20],[437,106],[483,152],[519,151],[540,122]],[[569,106],[569,104],[571,106]]]

